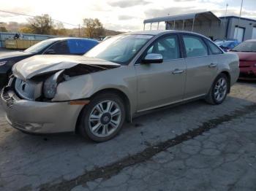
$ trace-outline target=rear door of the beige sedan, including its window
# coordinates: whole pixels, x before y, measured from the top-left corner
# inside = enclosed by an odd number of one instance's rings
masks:
[[[187,80],[184,98],[205,95],[217,75],[218,61],[201,36],[183,34]]]

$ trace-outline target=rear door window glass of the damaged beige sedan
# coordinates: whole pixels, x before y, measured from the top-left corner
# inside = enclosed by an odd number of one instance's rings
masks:
[[[198,36],[183,35],[187,58],[208,55],[208,48]]]

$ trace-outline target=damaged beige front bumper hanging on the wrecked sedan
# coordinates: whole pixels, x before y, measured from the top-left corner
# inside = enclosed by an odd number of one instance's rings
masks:
[[[1,104],[12,127],[28,133],[62,133],[75,130],[83,106],[69,102],[39,102],[18,98],[10,87],[1,91]]]

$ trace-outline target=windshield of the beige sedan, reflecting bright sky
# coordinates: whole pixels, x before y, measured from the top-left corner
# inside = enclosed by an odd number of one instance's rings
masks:
[[[152,37],[138,34],[113,36],[98,44],[85,56],[126,65]]]

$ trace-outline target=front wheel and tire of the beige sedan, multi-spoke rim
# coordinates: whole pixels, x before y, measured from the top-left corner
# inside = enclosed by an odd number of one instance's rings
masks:
[[[79,131],[93,141],[108,141],[121,130],[124,119],[124,101],[113,93],[100,94],[83,109]]]

